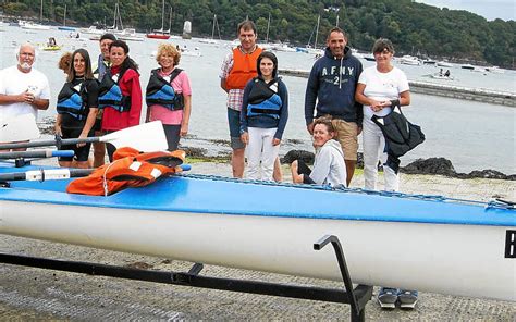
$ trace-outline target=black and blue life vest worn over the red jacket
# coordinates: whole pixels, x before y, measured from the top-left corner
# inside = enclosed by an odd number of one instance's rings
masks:
[[[127,112],[131,109],[131,97],[123,95],[119,85],[122,76],[123,74],[120,73],[116,81],[113,81],[111,72],[106,71],[99,84],[99,109],[113,108],[119,112]]]

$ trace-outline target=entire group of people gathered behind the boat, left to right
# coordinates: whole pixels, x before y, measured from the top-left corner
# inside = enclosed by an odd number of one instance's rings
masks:
[[[234,177],[281,181],[279,147],[288,120],[288,90],[278,75],[278,58],[257,46],[251,21],[237,26],[241,45],[224,58],[220,86],[228,94],[228,122],[231,137],[231,165]],[[394,48],[389,39],[378,39],[372,53],[376,65],[363,70],[347,46],[347,35],[339,27],[330,30],[324,55],[314,64],[305,94],[305,121],[316,149],[314,169],[296,160],[291,164],[294,183],[349,186],[357,162],[358,135],[363,134],[365,188],[376,189],[378,162],[383,164],[384,189],[398,189],[397,169],[386,162],[385,139],[373,119],[386,116],[396,106],[408,106],[407,77],[393,66]],[[113,35],[99,41],[101,53],[91,63],[89,53],[78,49],[63,57],[59,66],[66,81],[57,102],[56,134],[62,138],[98,136],[139,123],[142,103],[138,65],[130,48]],[[171,44],[158,48],[159,67],[151,71],[146,88],[145,122],[163,124],[169,150],[177,149],[188,133],[192,88],[186,73],[179,69],[181,53]],[[17,65],[1,71],[0,119],[32,113],[49,107],[50,90],[44,74],[32,67],[36,52],[24,44]],[[9,82],[8,82],[9,79]],[[96,144],[94,161],[90,146],[78,143],[63,146],[75,157],[60,158],[62,166],[100,166],[106,150],[112,161],[114,146]],[[415,304],[417,292],[382,288],[379,300],[385,307],[397,300]]]

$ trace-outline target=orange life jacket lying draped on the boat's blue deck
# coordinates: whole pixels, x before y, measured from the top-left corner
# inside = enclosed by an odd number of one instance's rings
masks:
[[[118,149],[113,162],[96,169],[87,177],[74,179],[66,187],[69,194],[108,196],[126,187],[142,187],[158,177],[181,171],[185,152],[158,151],[142,153],[133,148]]]

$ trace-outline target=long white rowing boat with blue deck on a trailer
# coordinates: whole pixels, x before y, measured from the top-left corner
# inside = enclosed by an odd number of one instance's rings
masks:
[[[1,164],[1,172],[26,171]],[[0,234],[232,268],[516,301],[516,210],[504,202],[182,174],[107,197],[70,179],[0,188]]]

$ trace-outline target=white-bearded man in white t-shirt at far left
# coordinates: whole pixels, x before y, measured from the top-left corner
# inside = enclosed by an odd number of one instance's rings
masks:
[[[16,58],[15,66],[0,71],[1,124],[14,122],[16,117],[26,114],[34,115],[36,122],[38,110],[47,110],[49,106],[50,87],[47,76],[33,69],[36,60],[34,46],[20,46]]]

